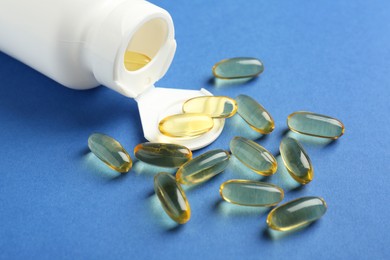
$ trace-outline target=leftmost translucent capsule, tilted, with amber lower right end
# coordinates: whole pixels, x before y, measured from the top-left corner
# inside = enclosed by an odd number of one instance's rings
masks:
[[[129,154],[114,138],[104,134],[92,134],[88,138],[88,147],[109,167],[118,172],[128,172],[133,165]]]

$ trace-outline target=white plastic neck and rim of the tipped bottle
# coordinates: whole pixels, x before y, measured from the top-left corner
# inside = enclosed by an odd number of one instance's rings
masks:
[[[144,0],[113,1],[108,14],[88,30],[85,62],[96,80],[122,95],[135,98],[150,88],[168,70],[175,50],[170,15]],[[126,52],[151,60],[138,70],[125,66]]]

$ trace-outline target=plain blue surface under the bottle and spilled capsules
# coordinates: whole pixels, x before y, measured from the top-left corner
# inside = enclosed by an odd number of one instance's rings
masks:
[[[175,227],[153,196],[154,169],[137,162],[114,178],[87,150],[95,131],[129,151],[144,141],[133,100],[106,88],[61,87],[0,54],[0,258],[389,259],[390,1],[154,3],[171,13],[178,42],[158,86],[251,95],[275,119],[274,133],[258,139],[275,155],[294,111],[344,122],[338,141],[304,142],[312,183],[292,189],[280,182],[282,167],[268,179],[285,187],[284,202],[318,195],[328,212],[298,232],[269,232],[266,210],[221,202],[224,180],[259,178],[233,160],[187,191],[192,219]],[[234,56],[261,58],[264,73],[215,86],[212,65]],[[205,150],[227,149],[243,131],[236,121]]]

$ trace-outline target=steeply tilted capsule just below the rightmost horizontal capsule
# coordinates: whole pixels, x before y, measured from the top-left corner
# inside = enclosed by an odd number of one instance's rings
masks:
[[[313,180],[313,166],[310,158],[295,139],[286,137],[280,143],[280,155],[291,177],[301,184]]]

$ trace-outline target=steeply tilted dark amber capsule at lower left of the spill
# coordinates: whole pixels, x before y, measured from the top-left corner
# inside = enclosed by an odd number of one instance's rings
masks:
[[[179,224],[184,224],[191,217],[191,208],[187,197],[169,173],[160,172],[154,177],[154,191],[168,216]]]

